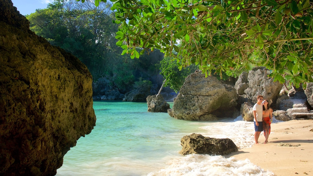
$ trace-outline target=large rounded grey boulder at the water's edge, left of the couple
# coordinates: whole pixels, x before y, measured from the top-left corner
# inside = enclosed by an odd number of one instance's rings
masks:
[[[217,120],[233,117],[229,109],[237,105],[236,90],[211,76],[192,73],[180,89],[170,111],[171,117],[184,120]],[[220,116],[219,116],[220,115]]]

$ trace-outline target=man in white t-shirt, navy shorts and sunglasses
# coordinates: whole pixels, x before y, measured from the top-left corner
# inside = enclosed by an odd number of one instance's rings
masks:
[[[259,144],[258,139],[259,139],[261,131],[263,131],[263,123],[262,123],[263,104],[262,104],[262,101],[263,101],[263,96],[258,95],[257,103],[255,103],[255,105],[253,106],[255,144]]]

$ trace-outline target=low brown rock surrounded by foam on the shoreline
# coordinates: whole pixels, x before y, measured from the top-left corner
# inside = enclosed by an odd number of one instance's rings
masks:
[[[187,154],[209,154],[209,155],[227,155],[231,152],[237,152],[238,148],[229,138],[218,139],[204,137],[201,134],[192,133],[181,139],[182,155]]]

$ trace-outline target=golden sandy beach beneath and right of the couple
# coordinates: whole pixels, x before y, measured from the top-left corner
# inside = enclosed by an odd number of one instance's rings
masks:
[[[226,157],[251,163],[277,176],[313,175],[313,120],[291,120],[271,124],[269,143],[264,144],[261,133],[259,144],[239,149]]]

